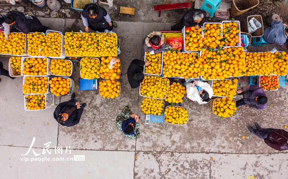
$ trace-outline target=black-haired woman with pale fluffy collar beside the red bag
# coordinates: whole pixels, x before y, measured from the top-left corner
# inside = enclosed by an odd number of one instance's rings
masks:
[[[145,52],[150,52],[151,55],[164,51],[164,35],[159,31],[149,33],[144,39],[143,48]]]

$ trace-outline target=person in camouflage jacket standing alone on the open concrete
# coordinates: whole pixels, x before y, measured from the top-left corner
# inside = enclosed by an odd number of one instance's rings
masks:
[[[128,106],[124,107],[121,114],[117,116],[116,126],[130,140],[140,136],[139,116],[133,114]]]

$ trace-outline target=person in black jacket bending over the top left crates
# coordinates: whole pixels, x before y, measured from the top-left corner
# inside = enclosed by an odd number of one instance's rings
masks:
[[[45,32],[48,29],[35,16],[17,11],[9,11],[5,17],[5,23],[9,25],[15,24],[15,28],[25,34],[29,32]]]

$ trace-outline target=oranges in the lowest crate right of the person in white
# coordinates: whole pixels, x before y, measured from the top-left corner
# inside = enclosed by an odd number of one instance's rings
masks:
[[[213,113],[220,117],[229,117],[234,115],[236,107],[236,102],[229,97],[220,97],[217,98],[214,102]]]

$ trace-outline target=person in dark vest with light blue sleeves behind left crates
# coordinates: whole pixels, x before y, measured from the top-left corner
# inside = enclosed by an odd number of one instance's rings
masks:
[[[95,3],[85,5],[81,18],[86,32],[89,32],[89,28],[94,31],[104,32],[105,29],[111,31],[113,26],[117,27],[117,24],[111,20],[107,11]]]

